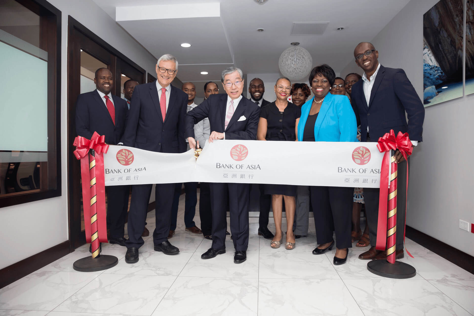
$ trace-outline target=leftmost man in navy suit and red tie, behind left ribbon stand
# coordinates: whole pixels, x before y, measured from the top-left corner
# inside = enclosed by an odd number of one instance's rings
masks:
[[[76,133],[91,139],[97,132],[105,135],[105,142],[122,142],[128,115],[127,102],[110,91],[114,86],[112,72],[99,68],[95,72],[96,90],[82,93],[76,101]],[[109,243],[125,246],[124,226],[128,209],[128,185],[107,187],[107,228]]]

